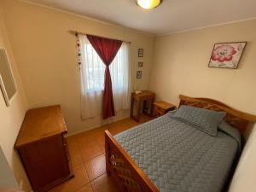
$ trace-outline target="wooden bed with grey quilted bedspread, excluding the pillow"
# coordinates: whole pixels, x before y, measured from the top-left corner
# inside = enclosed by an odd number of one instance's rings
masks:
[[[212,99],[179,97],[180,106],[226,112],[225,122],[236,130],[212,137],[171,112],[116,136],[105,131],[107,173],[120,191],[223,191],[241,152],[237,132],[244,135],[256,116]]]

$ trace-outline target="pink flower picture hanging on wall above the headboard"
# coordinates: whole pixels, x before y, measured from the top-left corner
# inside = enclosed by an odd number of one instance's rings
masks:
[[[237,68],[246,42],[214,44],[209,67]]]

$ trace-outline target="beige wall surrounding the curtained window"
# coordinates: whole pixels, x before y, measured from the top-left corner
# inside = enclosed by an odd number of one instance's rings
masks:
[[[3,18],[18,61],[29,108],[60,103],[69,133],[99,126],[102,117],[80,118],[75,37],[69,30],[131,41],[131,88],[147,89],[154,38],[125,27],[22,1],[2,0]],[[143,79],[136,79],[137,49],[144,49]],[[129,114],[129,110],[118,118]]]

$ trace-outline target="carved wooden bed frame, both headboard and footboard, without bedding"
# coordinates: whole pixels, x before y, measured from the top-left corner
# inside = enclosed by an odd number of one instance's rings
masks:
[[[250,123],[256,122],[256,116],[230,108],[222,102],[208,98],[192,98],[179,96],[180,105],[196,108],[207,108],[214,111],[224,111],[224,120],[238,129],[242,135],[247,131]],[[130,155],[117,143],[109,131],[105,131],[106,169],[121,192],[159,192],[154,183],[143,173]]]

